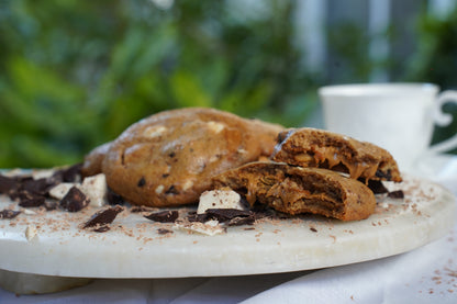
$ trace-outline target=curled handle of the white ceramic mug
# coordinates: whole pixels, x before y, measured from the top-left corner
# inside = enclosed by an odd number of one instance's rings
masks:
[[[457,104],[457,91],[444,91],[442,92],[435,104],[435,115],[434,121],[439,126],[447,126],[453,122],[453,115],[449,113],[443,113],[443,105],[447,102],[453,102]],[[457,147],[457,134],[453,135],[450,138],[435,144],[428,148],[428,151],[434,154],[445,153]]]

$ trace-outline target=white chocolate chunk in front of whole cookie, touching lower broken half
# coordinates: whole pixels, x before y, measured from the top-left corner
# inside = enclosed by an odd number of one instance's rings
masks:
[[[211,190],[200,195],[198,214],[204,213],[209,209],[237,209],[246,210],[242,203],[242,198],[233,190]]]

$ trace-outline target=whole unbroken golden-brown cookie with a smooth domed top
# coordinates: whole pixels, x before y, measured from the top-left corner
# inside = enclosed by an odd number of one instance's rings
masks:
[[[215,174],[270,156],[281,131],[213,109],[165,111],[133,124],[112,142],[101,170],[108,185],[133,204],[194,203]]]

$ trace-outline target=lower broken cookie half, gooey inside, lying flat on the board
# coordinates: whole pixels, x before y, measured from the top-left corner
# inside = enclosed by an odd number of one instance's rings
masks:
[[[214,188],[228,187],[256,202],[288,214],[312,213],[343,221],[367,218],[375,194],[364,183],[320,168],[279,162],[250,162],[213,179]]]

